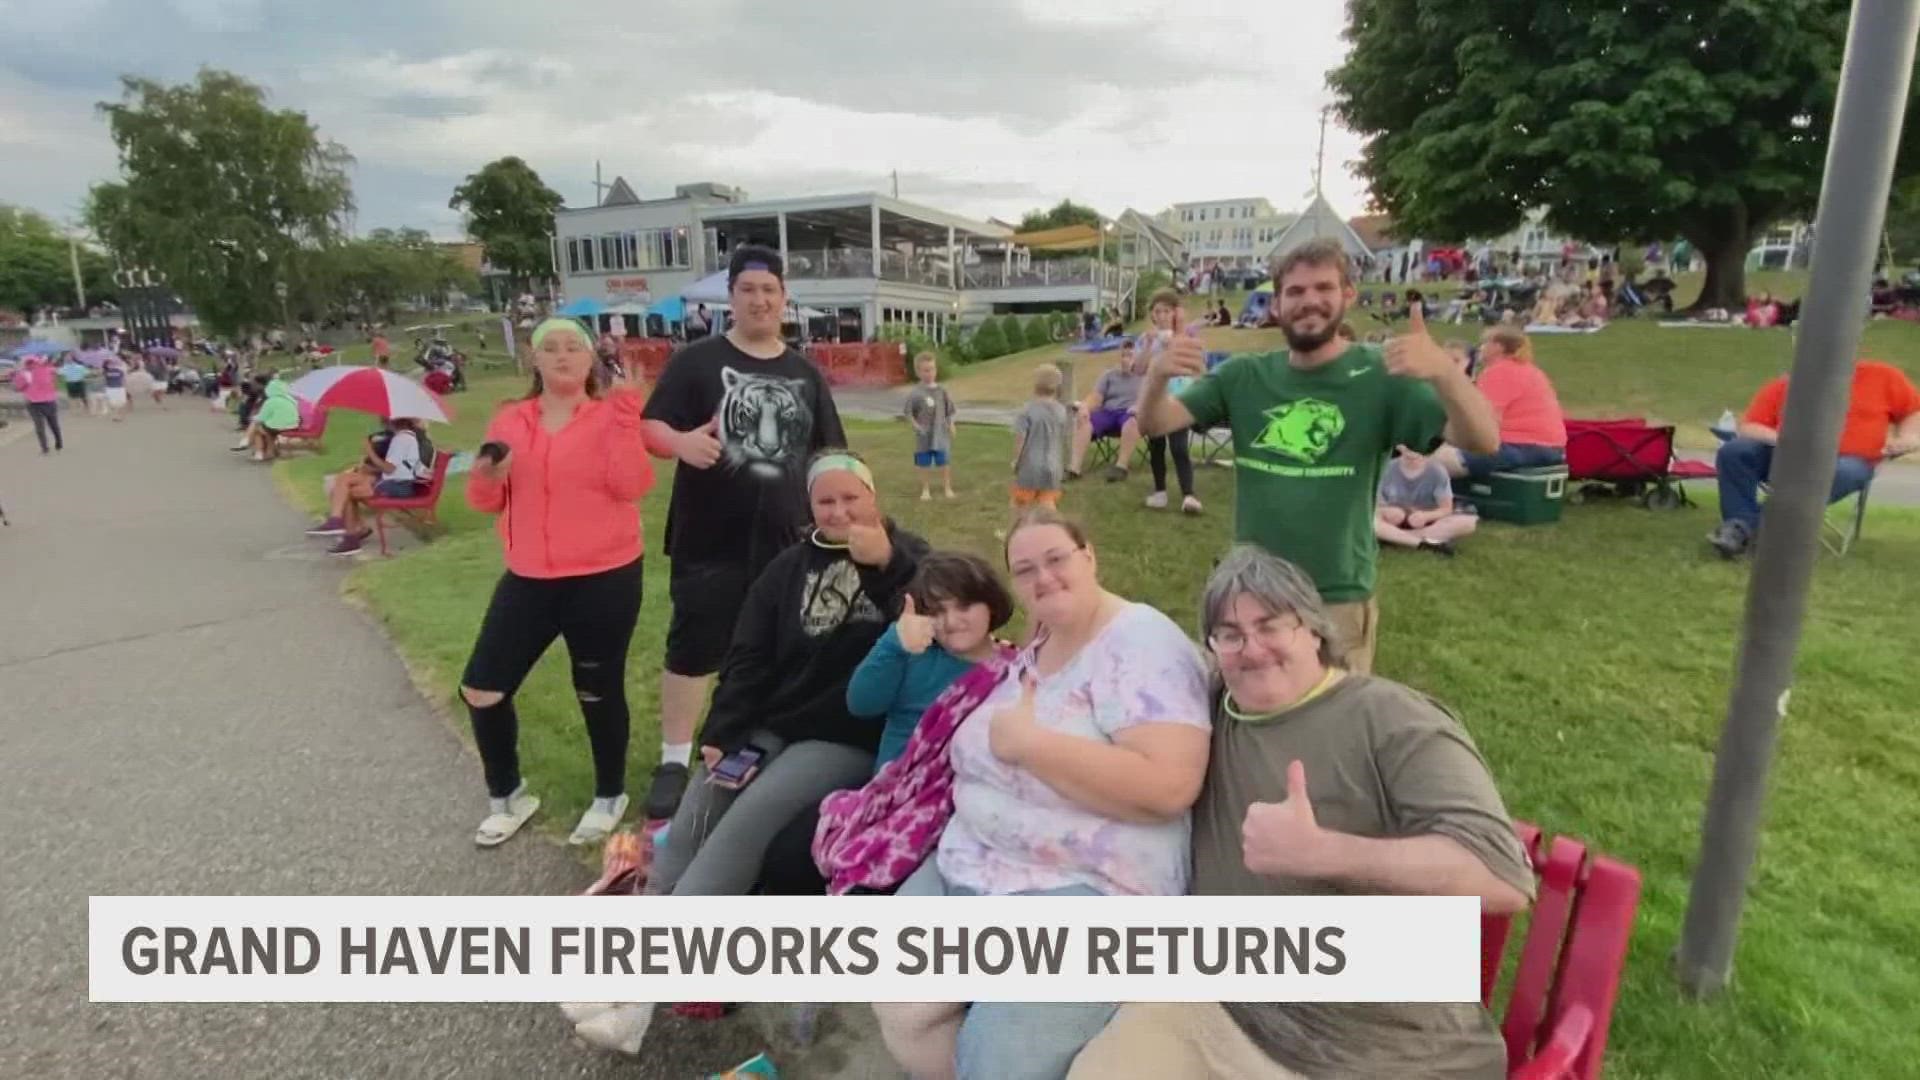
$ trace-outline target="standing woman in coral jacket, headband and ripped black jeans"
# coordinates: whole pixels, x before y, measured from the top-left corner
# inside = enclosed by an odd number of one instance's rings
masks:
[[[474,844],[507,842],[540,809],[520,778],[513,694],[553,638],[566,638],[593,746],[593,803],[574,844],[597,844],[626,813],[626,648],[639,619],[639,500],[653,461],[634,386],[601,386],[593,340],[570,319],[534,329],[534,388],[501,405],[467,482],[497,517],[507,573],[493,586],[461,698],[486,771],[490,813]]]

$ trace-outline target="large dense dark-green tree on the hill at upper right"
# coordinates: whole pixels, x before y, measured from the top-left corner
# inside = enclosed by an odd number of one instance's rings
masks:
[[[1707,261],[1699,306],[1734,307],[1753,238],[1818,200],[1847,12],[1348,0],[1329,81],[1396,234],[1494,236],[1544,206],[1594,242],[1686,236]]]

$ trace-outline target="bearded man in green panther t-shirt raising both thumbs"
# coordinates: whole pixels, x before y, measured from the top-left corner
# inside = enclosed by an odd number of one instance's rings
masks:
[[[1373,669],[1379,542],[1373,498],[1394,446],[1500,448],[1500,417],[1432,336],[1419,306],[1384,350],[1338,336],[1354,277],[1338,240],[1309,240],[1275,265],[1288,352],[1206,369],[1206,346],[1175,334],[1154,357],[1137,409],[1144,434],[1233,429],[1235,538],[1300,565],[1321,590],[1356,671]],[[1200,377],[1177,398],[1167,380]]]

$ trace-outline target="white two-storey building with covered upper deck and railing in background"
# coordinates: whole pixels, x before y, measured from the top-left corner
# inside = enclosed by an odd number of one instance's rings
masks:
[[[787,292],[826,311],[843,340],[910,325],[945,334],[1014,309],[1114,306],[1133,271],[1092,258],[1035,259],[1002,225],[881,194],[747,200],[724,184],[685,184],[641,200],[614,181],[599,206],[553,219],[555,267],[566,300],[591,298],[637,313],[726,269],[739,244],[764,244],[787,263]]]

